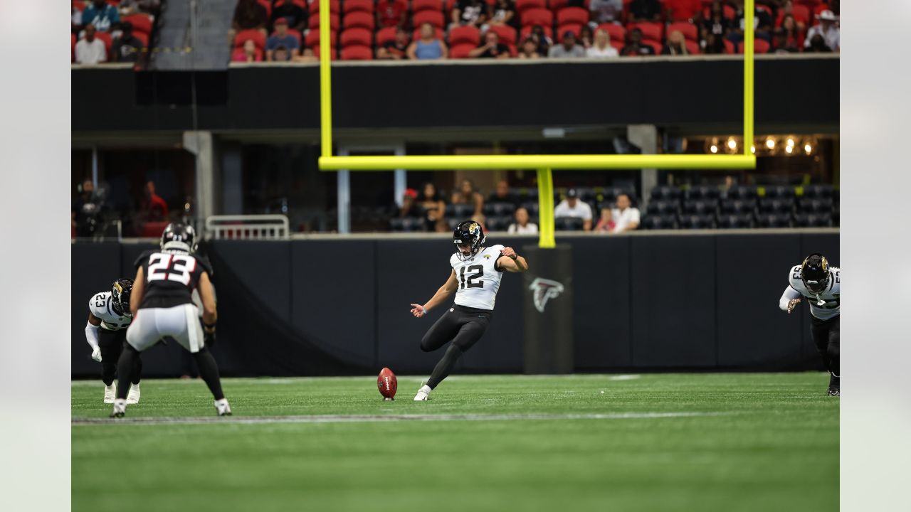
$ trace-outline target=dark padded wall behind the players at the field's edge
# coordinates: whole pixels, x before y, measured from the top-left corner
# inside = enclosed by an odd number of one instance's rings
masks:
[[[561,236],[573,247],[575,369],[591,371],[799,370],[819,368],[809,313],[778,310],[787,271],[821,251],[839,261],[837,230],[704,231]],[[516,247],[535,239],[493,234]],[[83,333],[88,299],[154,247],[72,246],[72,374],[93,377]],[[219,334],[213,353],[226,375],[427,373],[440,353],[418,343],[439,312],[415,319],[445,282],[445,238],[320,237],[215,241]],[[485,335],[461,372],[521,372],[521,279],[507,274]],[[176,346],[144,354],[148,376],[188,373]]]

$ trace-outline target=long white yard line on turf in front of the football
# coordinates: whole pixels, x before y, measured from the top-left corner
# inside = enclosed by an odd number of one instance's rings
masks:
[[[733,413],[606,413],[578,415],[297,415],[297,416],[205,416],[74,418],[72,425],[257,425],[276,423],[375,423],[396,421],[527,421],[527,420],[621,420],[721,416]]]

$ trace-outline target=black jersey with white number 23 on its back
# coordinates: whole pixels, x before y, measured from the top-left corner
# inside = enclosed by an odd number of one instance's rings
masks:
[[[170,308],[192,303],[202,272],[211,275],[209,262],[181,252],[148,251],[135,265],[142,267],[145,291],[139,308]]]

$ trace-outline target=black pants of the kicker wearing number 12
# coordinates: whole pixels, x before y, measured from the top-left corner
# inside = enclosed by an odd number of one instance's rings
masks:
[[[443,359],[436,364],[434,373],[430,374],[427,381],[430,389],[440,384],[452,372],[455,362],[462,354],[481,339],[492,316],[493,312],[489,310],[454,304],[430,327],[421,340],[421,350],[433,352],[445,343],[452,342],[443,354]]]

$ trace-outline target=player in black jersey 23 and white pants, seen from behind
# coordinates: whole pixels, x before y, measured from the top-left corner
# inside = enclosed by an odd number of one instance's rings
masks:
[[[215,397],[218,415],[230,415],[230,406],[221,392],[219,367],[207,350],[215,336],[215,296],[209,281],[207,261],[197,259],[192,252],[196,233],[191,226],[170,223],[161,234],[160,251],[147,251],[136,261],[138,267],[130,298],[133,323],[127,330],[127,345],[118,361],[118,390],[112,418],[123,417],[127,410],[128,369],[139,357],[165,336],[193,354],[202,380]],[[202,323],[190,295],[200,292]],[[208,343],[207,343],[208,342]]]

